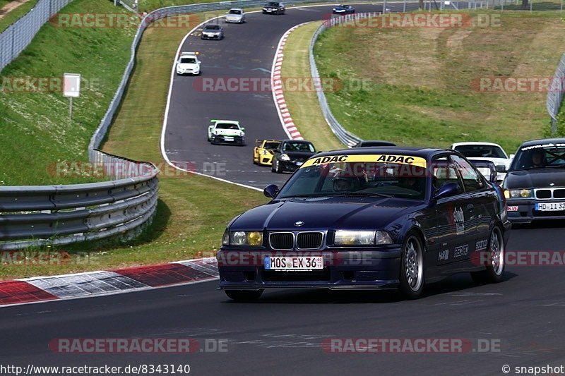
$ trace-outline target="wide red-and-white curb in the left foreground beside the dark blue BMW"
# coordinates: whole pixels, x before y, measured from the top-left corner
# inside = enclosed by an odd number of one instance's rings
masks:
[[[215,257],[100,272],[0,281],[0,306],[112,295],[218,279]]]

